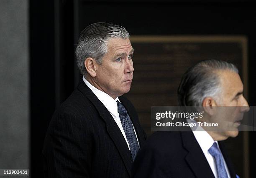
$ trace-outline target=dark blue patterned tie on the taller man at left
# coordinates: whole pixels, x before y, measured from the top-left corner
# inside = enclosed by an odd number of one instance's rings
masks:
[[[130,146],[131,155],[134,160],[138,152],[139,146],[133,129],[133,124],[125,107],[118,100],[116,101],[116,103],[118,105],[118,113],[123,126],[123,130],[125,131],[125,135]]]

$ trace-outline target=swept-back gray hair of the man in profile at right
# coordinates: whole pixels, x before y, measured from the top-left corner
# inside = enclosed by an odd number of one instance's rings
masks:
[[[178,88],[179,105],[201,106],[207,96],[219,95],[222,88],[217,70],[230,70],[238,73],[235,65],[223,60],[203,60],[197,63],[182,77]]]

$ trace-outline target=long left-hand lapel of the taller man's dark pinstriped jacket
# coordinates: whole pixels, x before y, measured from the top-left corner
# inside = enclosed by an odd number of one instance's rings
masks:
[[[125,167],[131,176],[131,168],[133,164],[131,152],[112,115],[83,81],[78,85],[77,89],[80,90],[92,102],[101,118],[105,121],[107,132],[109,133],[110,138],[113,140],[116,148],[118,149]]]

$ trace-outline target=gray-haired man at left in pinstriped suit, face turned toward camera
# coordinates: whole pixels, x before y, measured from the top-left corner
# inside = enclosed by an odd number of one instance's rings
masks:
[[[79,37],[83,80],[53,115],[43,148],[45,177],[129,178],[146,135],[123,97],[133,79],[133,48],[121,26],[94,23]]]

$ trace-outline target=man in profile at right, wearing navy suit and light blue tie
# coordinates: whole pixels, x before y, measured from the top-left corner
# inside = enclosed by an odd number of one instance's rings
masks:
[[[232,109],[232,114],[222,112],[228,122],[219,120],[220,125],[228,125],[212,131],[197,123],[195,131],[154,133],[137,154],[133,177],[236,178],[221,140],[238,135],[241,117],[249,109],[242,93],[238,69],[231,63],[205,60],[187,70],[178,89],[179,105],[200,106],[205,112],[203,121],[209,123],[218,122],[217,108]]]

